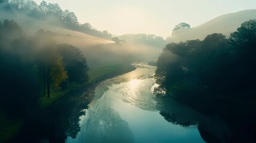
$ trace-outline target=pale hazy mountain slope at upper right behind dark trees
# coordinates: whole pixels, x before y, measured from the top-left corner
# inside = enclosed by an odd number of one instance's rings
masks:
[[[223,33],[226,36],[230,36],[230,33],[236,31],[240,24],[250,19],[256,19],[256,10],[243,10],[237,13],[220,15],[197,27],[174,30],[170,41],[180,42],[204,39],[212,33]]]

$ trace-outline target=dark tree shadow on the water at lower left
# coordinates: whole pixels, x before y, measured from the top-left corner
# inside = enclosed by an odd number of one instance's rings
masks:
[[[65,142],[80,132],[80,116],[85,115],[89,101],[86,95],[73,91],[54,105],[26,117],[23,128],[10,142]],[[74,98],[80,99],[73,100]]]

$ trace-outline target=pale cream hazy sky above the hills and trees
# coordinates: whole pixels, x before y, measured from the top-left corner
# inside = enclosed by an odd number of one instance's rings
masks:
[[[40,4],[42,0],[35,0]],[[222,14],[256,9],[256,0],[45,0],[73,11],[80,23],[91,23],[113,35],[147,33],[170,36],[176,24],[191,27]]]

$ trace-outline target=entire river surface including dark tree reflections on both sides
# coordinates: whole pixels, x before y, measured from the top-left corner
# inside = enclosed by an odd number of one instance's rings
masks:
[[[174,142],[255,141],[254,118],[232,118],[228,113],[223,116],[222,111],[219,111],[221,116],[212,116],[168,95],[153,94],[155,67],[139,63],[134,66],[135,71],[101,83],[90,104],[81,102],[84,100],[76,92],[73,94],[78,95],[79,100],[65,99],[36,116],[29,116],[12,142],[138,142],[145,138],[173,139]],[[151,119],[155,123],[150,123]],[[158,123],[163,121],[165,123]],[[199,133],[195,132],[196,128]],[[149,136],[148,130],[155,135]]]

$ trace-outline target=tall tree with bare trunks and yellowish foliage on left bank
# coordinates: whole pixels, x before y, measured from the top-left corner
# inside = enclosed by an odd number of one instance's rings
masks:
[[[67,80],[67,71],[63,66],[61,55],[56,52],[56,42],[53,40],[52,32],[39,30],[33,41],[38,49],[38,73],[43,80],[44,95],[47,91],[47,97],[50,97],[50,85],[59,88],[59,84]]]

